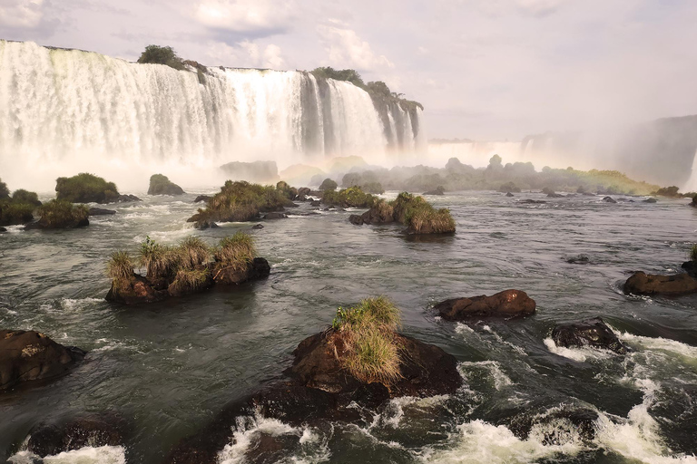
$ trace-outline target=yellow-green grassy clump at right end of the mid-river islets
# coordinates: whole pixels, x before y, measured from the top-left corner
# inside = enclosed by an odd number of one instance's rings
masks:
[[[393,217],[414,234],[455,232],[455,220],[447,208],[433,208],[423,197],[402,192],[391,202]]]

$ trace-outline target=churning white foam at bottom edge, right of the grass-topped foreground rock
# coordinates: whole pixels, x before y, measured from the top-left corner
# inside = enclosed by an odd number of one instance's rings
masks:
[[[428,453],[424,460],[439,464],[523,464],[554,457],[557,453],[574,455],[582,449],[574,441],[545,445],[538,434],[531,434],[527,440],[520,440],[505,426],[492,425],[483,420],[466,422],[457,426],[457,430],[459,435],[453,448]]]

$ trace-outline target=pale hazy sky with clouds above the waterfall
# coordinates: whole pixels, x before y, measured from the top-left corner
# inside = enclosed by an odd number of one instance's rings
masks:
[[[137,59],[357,69],[431,138],[519,140],[697,113],[697,0],[0,0],[0,38]]]

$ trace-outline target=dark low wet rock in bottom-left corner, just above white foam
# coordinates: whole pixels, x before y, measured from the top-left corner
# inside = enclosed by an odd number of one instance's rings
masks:
[[[45,457],[87,446],[122,446],[128,424],[120,416],[104,413],[42,424],[30,432],[27,449]]]

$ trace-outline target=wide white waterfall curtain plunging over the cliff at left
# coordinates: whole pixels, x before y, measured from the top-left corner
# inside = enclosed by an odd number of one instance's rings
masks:
[[[199,172],[180,181],[212,185],[214,169],[232,160],[377,162],[425,147],[421,111],[376,105],[351,83],[310,73],[197,74],[0,41],[0,177],[46,191],[83,171],[141,188],[154,172]]]

